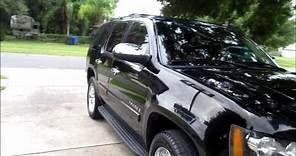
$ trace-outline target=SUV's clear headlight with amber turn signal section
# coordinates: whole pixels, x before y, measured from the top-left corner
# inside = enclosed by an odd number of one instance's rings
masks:
[[[230,156],[296,156],[296,142],[231,126]]]

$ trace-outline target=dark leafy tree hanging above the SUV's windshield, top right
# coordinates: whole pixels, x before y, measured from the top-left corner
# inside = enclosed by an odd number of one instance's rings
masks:
[[[259,44],[277,48],[295,42],[289,21],[291,0],[159,0],[165,16],[202,19],[223,23],[229,21]],[[285,32],[285,33],[284,33]],[[286,36],[282,36],[286,35]],[[280,42],[279,42],[280,41]]]

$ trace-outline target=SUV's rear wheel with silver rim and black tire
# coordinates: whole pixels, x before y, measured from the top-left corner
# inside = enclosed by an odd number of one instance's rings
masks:
[[[94,77],[91,77],[88,81],[87,89],[87,110],[88,115],[96,120],[103,118],[98,110],[98,106],[102,105],[102,101],[98,94],[97,84]]]

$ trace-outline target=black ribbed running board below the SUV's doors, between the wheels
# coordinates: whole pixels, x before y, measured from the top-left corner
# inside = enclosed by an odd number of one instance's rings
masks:
[[[127,125],[121,121],[121,119],[118,118],[115,113],[110,111],[105,106],[99,106],[98,110],[133,152],[140,156],[148,155],[143,143],[141,143],[141,141],[139,141],[140,139],[135,136],[135,132],[131,131],[129,127],[127,127]]]

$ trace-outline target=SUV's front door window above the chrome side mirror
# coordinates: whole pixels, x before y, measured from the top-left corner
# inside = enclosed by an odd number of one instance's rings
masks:
[[[146,26],[143,23],[135,22],[124,41],[136,47],[136,51],[144,54],[148,48],[148,33]]]

